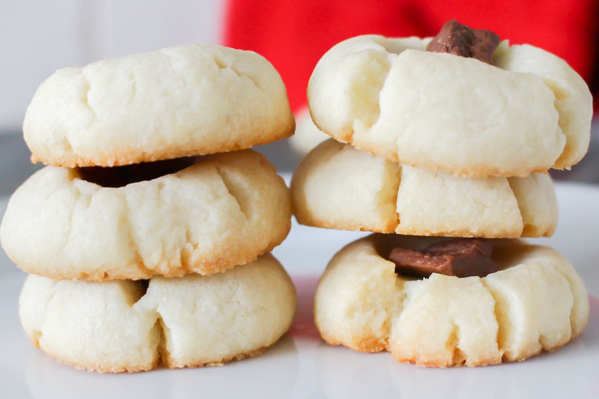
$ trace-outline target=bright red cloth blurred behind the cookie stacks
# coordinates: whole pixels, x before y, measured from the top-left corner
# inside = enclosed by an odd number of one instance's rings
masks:
[[[223,41],[270,60],[296,111],[316,62],[335,43],[366,33],[434,36],[450,19],[544,48],[589,82],[598,11],[594,0],[230,0]]]

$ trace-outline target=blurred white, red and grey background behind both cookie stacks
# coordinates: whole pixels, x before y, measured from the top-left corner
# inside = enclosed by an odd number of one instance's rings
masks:
[[[29,162],[20,126],[37,86],[64,66],[193,42],[257,51],[282,75],[299,126],[292,141],[258,149],[279,169],[292,170],[302,151],[327,137],[310,124],[305,88],[335,43],[364,33],[435,35],[455,18],[557,54],[596,95],[597,16],[596,0],[0,0],[0,196],[41,167]],[[553,175],[599,183],[597,112],[589,154],[571,172]]]

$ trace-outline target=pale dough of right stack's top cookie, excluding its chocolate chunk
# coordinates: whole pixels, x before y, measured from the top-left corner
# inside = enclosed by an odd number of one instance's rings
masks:
[[[308,84],[316,125],[404,165],[526,176],[577,163],[592,98],[553,54],[507,41],[495,64],[423,51],[430,38],[358,36],[331,48]]]

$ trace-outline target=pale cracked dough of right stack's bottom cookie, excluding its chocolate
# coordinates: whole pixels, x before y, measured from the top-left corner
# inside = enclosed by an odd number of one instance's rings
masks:
[[[501,270],[485,278],[407,278],[381,255],[436,240],[373,234],[337,252],[314,299],[323,339],[420,366],[485,366],[553,351],[584,330],[585,287],[552,248],[489,240]]]

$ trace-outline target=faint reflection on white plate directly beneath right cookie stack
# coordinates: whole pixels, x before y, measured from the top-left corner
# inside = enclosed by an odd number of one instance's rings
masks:
[[[477,368],[419,368],[386,352],[358,354],[321,343],[319,383],[327,398],[597,398],[599,299],[582,336],[552,354]],[[363,384],[349,381],[367,382]]]

